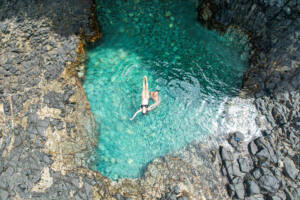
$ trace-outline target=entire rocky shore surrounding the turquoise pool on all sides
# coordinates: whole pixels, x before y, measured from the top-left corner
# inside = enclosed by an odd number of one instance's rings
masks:
[[[84,44],[101,37],[93,2],[0,0],[0,200],[300,199],[300,2],[200,0],[199,21],[249,34],[245,96],[270,128],[249,144],[231,133],[210,154],[191,144],[195,162],[169,155],[112,182],[88,169],[97,141],[78,78]]]

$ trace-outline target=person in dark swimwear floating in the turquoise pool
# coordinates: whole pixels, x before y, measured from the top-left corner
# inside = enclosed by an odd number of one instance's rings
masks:
[[[149,106],[148,79],[147,76],[144,76],[141,109],[139,109],[130,120],[133,120],[138,113],[142,112],[143,115],[145,115],[147,112],[153,110],[155,107],[158,106],[158,104],[160,103],[158,91],[150,92],[150,95],[151,98],[154,100],[154,104],[152,104],[151,106]]]

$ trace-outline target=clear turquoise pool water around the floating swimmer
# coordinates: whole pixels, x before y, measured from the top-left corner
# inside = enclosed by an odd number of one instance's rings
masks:
[[[94,167],[114,180],[136,178],[154,158],[212,134],[221,105],[241,87],[247,40],[202,28],[194,0],[97,5],[103,38],[88,49],[83,83],[99,131]],[[130,121],[144,75],[161,105]]]

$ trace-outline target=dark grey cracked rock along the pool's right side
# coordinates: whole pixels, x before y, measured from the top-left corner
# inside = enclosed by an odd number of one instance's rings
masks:
[[[206,27],[224,31],[234,26],[250,36],[254,49],[244,90],[255,96],[257,109],[270,124],[248,148],[237,151],[230,139],[235,153],[220,149],[228,194],[237,199],[299,199],[299,1],[199,2],[198,18]]]

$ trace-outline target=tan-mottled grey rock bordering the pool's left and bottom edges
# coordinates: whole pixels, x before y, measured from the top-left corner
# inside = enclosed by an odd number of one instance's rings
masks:
[[[135,180],[90,170],[96,127],[79,78],[84,44],[101,37],[92,1],[0,5],[0,199],[227,198],[198,144],[185,151],[194,163],[157,158]]]

